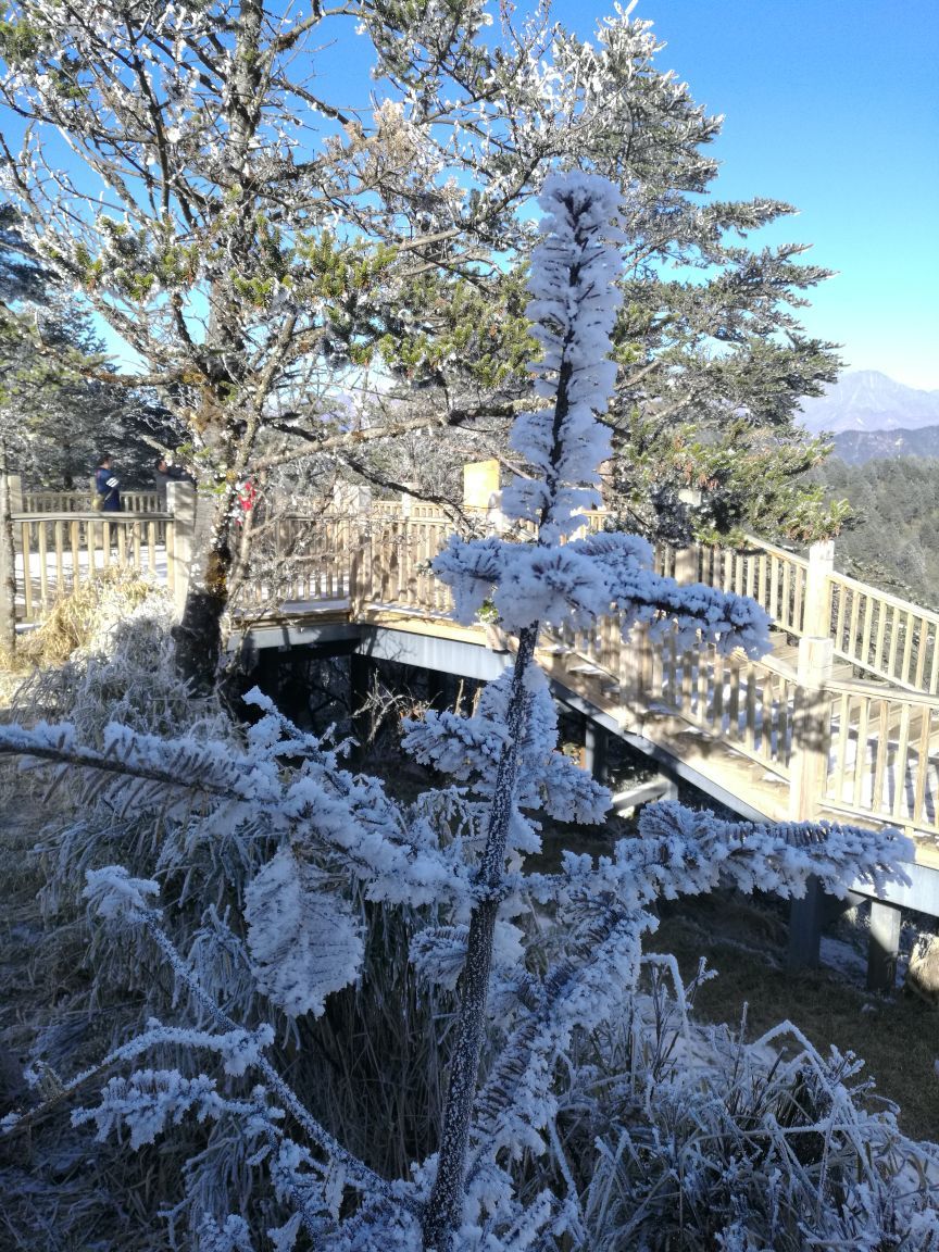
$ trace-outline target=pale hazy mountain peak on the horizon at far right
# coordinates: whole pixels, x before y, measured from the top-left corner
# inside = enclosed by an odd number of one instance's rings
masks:
[[[841,374],[824,396],[801,402],[803,426],[813,434],[823,432],[896,431],[909,434],[924,427],[939,426],[939,391],[919,391],[888,378],[876,369],[858,369]],[[879,456],[930,456],[934,452],[880,452]]]

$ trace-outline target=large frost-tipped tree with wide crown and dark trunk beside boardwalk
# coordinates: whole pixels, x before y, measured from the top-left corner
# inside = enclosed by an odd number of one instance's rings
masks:
[[[349,98],[317,79],[333,40],[372,63]],[[823,273],[736,238],[788,207],[701,204],[719,119],[659,50],[625,10],[587,43],[546,5],[495,0],[8,6],[6,192],[44,264],[141,358],[124,382],[159,389],[204,492],[187,672],[214,667],[249,467],[374,472],[376,441],[512,416],[523,210],[558,163],[626,195],[612,421],[639,404],[779,424],[831,376],[786,309]]]

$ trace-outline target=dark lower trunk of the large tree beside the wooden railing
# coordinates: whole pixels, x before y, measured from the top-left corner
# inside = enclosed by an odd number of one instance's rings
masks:
[[[222,497],[202,492],[183,620],[173,629],[177,672],[193,690],[212,690],[222,654],[222,617],[228,608],[232,572],[233,491]]]

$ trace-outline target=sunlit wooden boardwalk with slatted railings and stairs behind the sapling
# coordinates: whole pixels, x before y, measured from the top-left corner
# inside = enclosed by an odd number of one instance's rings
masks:
[[[100,515],[73,513],[63,497],[49,503],[24,498],[14,518],[25,618],[101,563],[149,571],[180,601],[182,513],[141,496],[138,512],[115,515],[104,543]],[[255,623],[381,621],[485,646],[482,626],[449,618],[448,590],[429,570],[451,531],[429,506],[391,502],[354,516],[268,518],[237,612]],[[611,615],[590,632],[546,635],[548,675],[607,725],[751,811],[898,825],[915,838],[918,860],[939,866],[939,615],[836,573],[830,545],[808,556],[756,538],[737,550],[661,548],[656,565],[756,598],[775,622],[772,652],[761,661],[681,652],[647,630],[623,641]]]

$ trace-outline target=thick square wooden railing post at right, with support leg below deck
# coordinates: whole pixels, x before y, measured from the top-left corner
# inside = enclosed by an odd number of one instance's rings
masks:
[[[828,790],[831,740],[831,677],[835,644],[831,639],[831,585],[835,546],[829,540],[809,548],[805,578],[804,631],[799,640],[798,680],[793,717],[793,754],[789,765],[789,816],[811,821]],[[789,914],[789,965],[818,965],[825,895],[811,878],[801,900]]]

